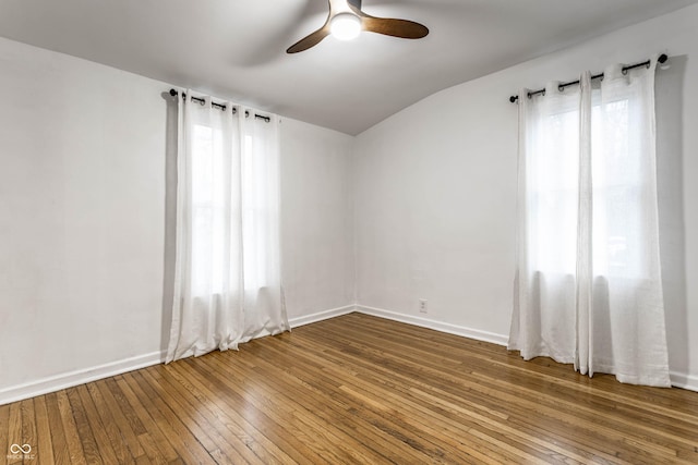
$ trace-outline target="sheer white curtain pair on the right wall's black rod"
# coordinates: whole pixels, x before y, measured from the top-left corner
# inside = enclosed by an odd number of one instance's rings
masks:
[[[519,95],[509,350],[669,387],[659,259],[654,74]]]

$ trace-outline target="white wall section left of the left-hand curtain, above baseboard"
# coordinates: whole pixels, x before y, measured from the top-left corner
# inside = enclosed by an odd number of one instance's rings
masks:
[[[0,394],[161,346],[163,84],[0,39]]]

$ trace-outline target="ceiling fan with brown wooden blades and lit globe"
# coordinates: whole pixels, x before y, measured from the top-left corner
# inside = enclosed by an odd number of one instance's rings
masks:
[[[316,46],[328,35],[341,40],[349,40],[361,30],[384,34],[404,39],[421,39],[429,34],[426,26],[408,20],[392,17],[374,17],[361,11],[361,0],[328,0],[329,13],[325,24],[303,37],[286,50],[287,53],[298,53]]]

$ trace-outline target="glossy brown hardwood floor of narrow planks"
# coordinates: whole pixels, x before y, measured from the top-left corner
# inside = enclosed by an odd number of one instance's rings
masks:
[[[696,464],[698,393],[351,314],[0,406],[23,460]]]

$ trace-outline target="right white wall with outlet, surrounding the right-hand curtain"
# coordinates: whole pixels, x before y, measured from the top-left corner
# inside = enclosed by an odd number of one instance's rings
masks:
[[[514,276],[520,87],[669,51],[659,72],[662,262],[670,363],[698,389],[698,7],[435,94],[356,146],[360,308],[504,343]],[[428,315],[418,299],[426,298]]]

